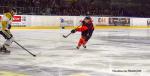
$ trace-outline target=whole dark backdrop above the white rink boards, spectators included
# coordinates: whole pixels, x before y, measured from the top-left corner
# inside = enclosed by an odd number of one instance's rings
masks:
[[[0,14],[150,17],[150,0],[0,0]]]

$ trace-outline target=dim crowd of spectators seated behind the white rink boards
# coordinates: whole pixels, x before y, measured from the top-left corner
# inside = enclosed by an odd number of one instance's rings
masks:
[[[83,0],[82,0],[83,1]],[[147,16],[144,12],[139,12],[136,8],[97,6],[93,4],[94,0],[87,0],[89,3],[80,2],[80,0],[0,0],[0,13],[6,8],[15,7],[18,14],[28,15],[98,15],[98,16]]]

